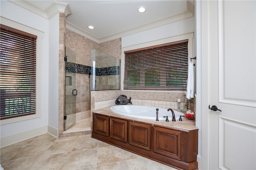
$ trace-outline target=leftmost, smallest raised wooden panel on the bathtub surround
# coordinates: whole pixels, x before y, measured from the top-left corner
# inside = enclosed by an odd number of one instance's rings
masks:
[[[100,135],[109,135],[109,117],[94,114],[94,129],[95,133]]]

